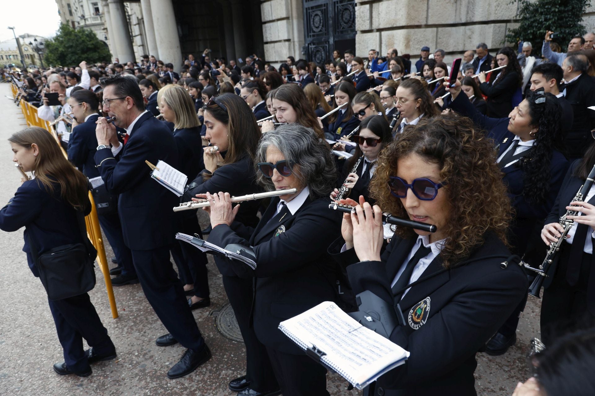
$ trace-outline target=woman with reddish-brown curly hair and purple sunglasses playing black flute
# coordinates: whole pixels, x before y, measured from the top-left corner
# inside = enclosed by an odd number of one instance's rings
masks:
[[[343,201],[356,208],[329,252],[353,294],[369,290],[404,319],[389,338],[411,356],[369,394],[475,396],[475,354],[528,287],[502,265],[511,206],[492,142],[464,118],[422,119],[380,153],[370,191],[374,207]],[[383,252],[383,211],[437,231],[396,226]]]

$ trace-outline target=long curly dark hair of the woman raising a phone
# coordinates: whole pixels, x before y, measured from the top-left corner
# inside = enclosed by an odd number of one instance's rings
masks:
[[[522,195],[531,204],[542,204],[550,189],[550,162],[552,150],[563,151],[562,107],[553,94],[546,93],[546,101],[535,103],[543,88],[529,91],[525,100],[529,104],[531,125],[538,128],[530,154],[516,162],[525,173]]]

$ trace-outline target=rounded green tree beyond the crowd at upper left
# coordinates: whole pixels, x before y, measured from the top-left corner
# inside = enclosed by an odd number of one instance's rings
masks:
[[[50,65],[73,66],[82,61],[89,63],[109,61],[111,54],[90,29],[74,29],[62,24],[58,34],[45,42],[45,61]]]

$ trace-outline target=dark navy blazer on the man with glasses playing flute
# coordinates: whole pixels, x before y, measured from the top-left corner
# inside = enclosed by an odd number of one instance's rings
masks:
[[[129,132],[119,160],[104,148],[95,153],[95,163],[108,191],[120,194],[118,213],[126,246],[131,250],[161,248],[174,242],[172,208],[180,202],[176,194],[151,178],[145,160],[152,164],[163,160],[177,168],[176,140],[150,112],[143,113]]]

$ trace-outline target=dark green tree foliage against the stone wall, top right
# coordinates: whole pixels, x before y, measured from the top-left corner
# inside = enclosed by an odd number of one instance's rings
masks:
[[[589,0],[518,0],[518,18],[521,24],[506,34],[508,42],[519,40],[533,44],[533,55],[541,55],[541,45],[547,30],[558,33],[553,42],[566,52],[566,45],[572,37],[586,33],[581,23],[583,14],[590,6]],[[516,1],[514,1],[516,2]],[[512,4],[513,2],[511,2]]]

